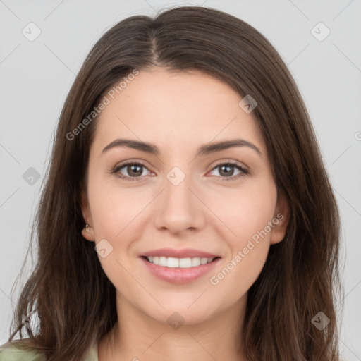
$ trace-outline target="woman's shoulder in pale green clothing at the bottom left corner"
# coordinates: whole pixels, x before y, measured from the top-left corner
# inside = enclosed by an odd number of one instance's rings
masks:
[[[25,340],[0,345],[0,361],[46,361],[44,355]]]

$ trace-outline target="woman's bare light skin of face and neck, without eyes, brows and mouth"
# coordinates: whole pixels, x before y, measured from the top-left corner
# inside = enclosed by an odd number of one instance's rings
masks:
[[[285,235],[288,204],[278,197],[256,118],[238,106],[240,99],[224,82],[198,71],[151,68],[140,71],[97,119],[82,192],[82,212],[91,228],[82,235],[95,243],[106,239],[113,247],[99,262],[116,287],[118,312],[118,325],[99,341],[100,361],[245,360],[236,332],[247,291],[270,245]],[[120,137],[157,145],[159,154],[128,147],[102,154]],[[262,154],[243,146],[196,157],[201,145],[235,137]],[[138,180],[111,173],[127,161],[145,163],[146,168],[135,167],[137,177],[127,166],[118,171]],[[219,164],[227,161],[249,173],[235,179],[240,171],[234,167],[225,175]],[[174,166],[185,174],[179,185],[166,178]],[[233,180],[222,181],[222,175]],[[280,213],[283,219],[241,262],[217,285],[210,283]],[[163,247],[204,250],[221,261],[209,274],[176,285],[150,274],[139,258]],[[184,319],[178,329],[167,322],[173,312]]]

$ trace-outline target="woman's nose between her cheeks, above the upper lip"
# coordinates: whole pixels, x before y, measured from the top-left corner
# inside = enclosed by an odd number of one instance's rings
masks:
[[[179,235],[204,227],[206,207],[192,188],[187,176],[178,185],[165,179],[164,190],[157,197],[154,209],[157,229]]]

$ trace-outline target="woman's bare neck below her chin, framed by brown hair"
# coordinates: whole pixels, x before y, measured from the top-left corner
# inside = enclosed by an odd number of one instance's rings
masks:
[[[202,322],[185,322],[173,311],[160,322],[117,294],[118,322],[99,341],[99,361],[245,360],[240,324],[246,300],[247,294],[233,307]]]

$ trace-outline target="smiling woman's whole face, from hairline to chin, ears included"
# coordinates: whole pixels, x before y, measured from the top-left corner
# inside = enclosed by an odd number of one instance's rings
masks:
[[[117,298],[160,322],[235,309],[288,214],[254,114],[197,71],[140,71],[111,94],[90,149],[82,212],[92,228],[82,234],[98,244]],[[231,140],[240,142],[212,146]],[[153,264],[142,257],[152,251]]]

